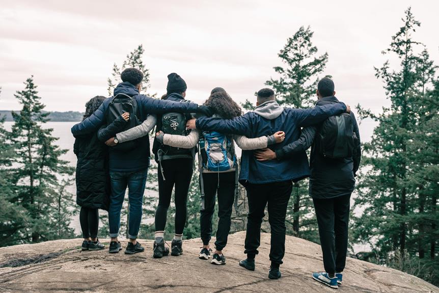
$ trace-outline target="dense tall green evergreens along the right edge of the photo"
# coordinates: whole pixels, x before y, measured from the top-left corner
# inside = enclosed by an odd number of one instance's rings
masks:
[[[419,26],[410,8],[406,10],[403,26],[383,51],[399,59],[399,68],[392,70],[389,61],[375,68],[390,107],[375,115],[358,106],[363,118],[379,125],[364,144],[355,199],[363,212],[354,219],[353,238],[369,243],[390,267],[437,285],[439,82],[427,50],[417,52],[422,44],[412,35]],[[430,260],[425,259],[427,252]]]

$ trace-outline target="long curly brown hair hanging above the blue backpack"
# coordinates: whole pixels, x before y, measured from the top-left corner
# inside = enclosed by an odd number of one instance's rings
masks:
[[[216,114],[224,119],[232,119],[242,115],[241,107],[223,89],[214,88],[204,105],[212,107]]]

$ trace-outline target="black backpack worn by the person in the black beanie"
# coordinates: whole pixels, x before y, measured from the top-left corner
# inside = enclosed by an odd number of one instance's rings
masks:
[[[187,116],[183,113],[165,113],[161,117],[161,131],[164,134],[187,136],[189,132],[186,130]],[[168,145],[161,145],[160,149],[164,154],[192,154],[192,149],[171,147]]]

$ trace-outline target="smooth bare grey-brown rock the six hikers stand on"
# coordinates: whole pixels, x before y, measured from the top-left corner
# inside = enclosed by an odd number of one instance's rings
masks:
[[[292,236],[283,277],[269,280],[270,235],[261,235],[255,272],[238,266],[244,237],[245,232],[230,235],[227,264],[221,266],[198,259],[200,239],[184,241],[183,255],[162,259],[152,258],[153,242],[145,240],[140,240],[145,252],[135,255],[81,252],[81,239],[0,248],[0,292],[439,292],[417,277],[351,258],[344,284],[338,290],[326,287],[311,278],[311,272],[323,270],[320,247]]]

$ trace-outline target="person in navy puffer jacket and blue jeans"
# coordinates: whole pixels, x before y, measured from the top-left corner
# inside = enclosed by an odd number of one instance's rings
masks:
[[[140,94],[142,71],[136,68],[127,68],[121,74],[122,83],[117,85],[114,95],[125,94],[133,97],[138,104],[136,116],[140,121],[146,120],[148,114],[167,112],[203,113],[211,116],[207,106],[195,103],[181,103],[168,100],[158,100]],[[75,124],[71,131],[73,136],[96,132],[102,125],[113,121],[106,121],[106,112],[112,98],[107,98],[99,108],[81,123]],[[117,144],[117,140],[113,140]],[[142,201],[145,191],[147,170],[149,166],[150,149],[148,137],[139,139],[139,146],[131,151],[109,150],[109,173],[111,177],[111,197],[108,210],[109,245],[110,253],[118,253],[122,246],[118,240],[120,228],[120,213],[123,205],[126,188],[129,198],[129,243],[125,250],[127,254],[143,252],[144,248],[136,241],[142,218]]]

